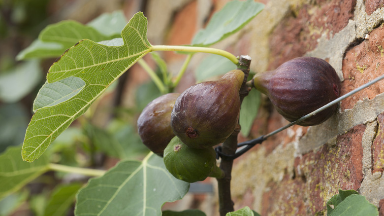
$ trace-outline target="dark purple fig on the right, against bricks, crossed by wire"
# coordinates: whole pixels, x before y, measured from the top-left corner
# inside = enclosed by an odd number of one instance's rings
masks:
[[[257,73],[253,84],[266,94],[277,111],[288,121],[324,106],[340,96],[340,78],[326,61],[315,57],[292,59],[274,71]],[[328,119],[337,105],[298,123],[317,125]]]

